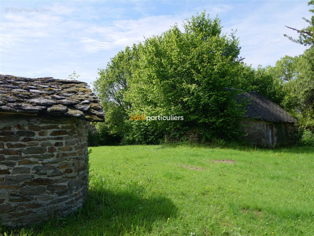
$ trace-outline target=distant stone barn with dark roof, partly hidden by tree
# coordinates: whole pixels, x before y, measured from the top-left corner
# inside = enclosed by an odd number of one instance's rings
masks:
[[[237,96],[246,97],[249,103],[242,125],[246,135],[241,139],[256,146],[273,148],[295,142],[295,118],[260,93],[247,92]]]

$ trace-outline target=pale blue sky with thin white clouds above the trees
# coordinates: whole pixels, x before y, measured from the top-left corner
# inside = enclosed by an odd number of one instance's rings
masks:
[[[157,35],[206,10],[223,31],[237,29],[247,64],[275,65],[305,47],[294,28],[307,26],[308,1],[0,1],[0,74],[67,78],[91,83],[98,68],[127,45]]]

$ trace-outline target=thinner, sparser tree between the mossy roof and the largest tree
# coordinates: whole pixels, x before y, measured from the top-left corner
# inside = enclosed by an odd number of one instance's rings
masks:
[[[126,47],[124,51],[117,53],[106,68],[99,70],[100,77],[94,82],[94,90],[105,111],[105,122],[97,124],[97,130],[116,139],[120,137],[120,140],[129,130],[125,121],[132,104],[124,93],[128,89],[128,81],[133,76],[132,67],[138,57],[137,50],[137,46],[133,45],[132,48]]]

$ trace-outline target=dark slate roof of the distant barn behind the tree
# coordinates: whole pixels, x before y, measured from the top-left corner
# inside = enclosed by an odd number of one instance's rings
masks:
[[[247,112],[243,117],[272,122],[298,122],[295,118],[290,116],[288,112],[260,93],[241,93],[237,95],[237,100],[243,97],[249,99],[249,103],[251,103],[246,105]]]

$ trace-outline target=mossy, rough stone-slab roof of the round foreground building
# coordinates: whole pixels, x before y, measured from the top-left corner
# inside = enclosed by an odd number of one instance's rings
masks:
[[[100,100],[77,80],[0,75],[0,115],[52,114],[104,121]]]

